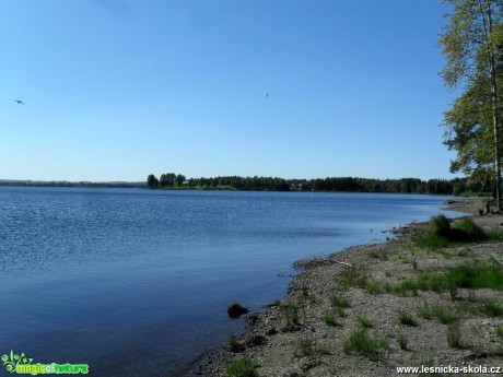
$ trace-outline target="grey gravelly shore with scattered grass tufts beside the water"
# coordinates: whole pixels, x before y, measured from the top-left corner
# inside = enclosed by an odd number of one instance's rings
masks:
[[[478,213],[481,200],[452,205]],[[473,221],[484,228],[503,228],[502,215],[475,214]],[[397,367],[421,365],[503,367],[503,316],[483,311],[487,303],[503,303],[502,291],[394,288],[459,264],[501,266],[503,244],[421,249],[411,234],[424,226],[408,226],[396,240],[304,262],[288,297],[248,316],[249,332],[210,355],[195,374],[225,376],[238,360],[253,361],[258,376],[270,377],[395,376]],[[349,340],[356,332],[381,345],[367,354],[350,351]],[[496,374],[484,376],[491,375]]]

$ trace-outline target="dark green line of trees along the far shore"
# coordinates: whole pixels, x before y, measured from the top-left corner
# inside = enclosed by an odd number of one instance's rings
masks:
[[[175,173],[153,174],[147,178],[151,189],[199,189],[199,190],[248,190],[248,191],[350,191],[350,192],[403,192],[458,195],[478,191],[468,187],[466,178],[430,179],[369,179],[354,177],[331,177],[317,179],[283,179],[278,177],[212,177],[189,178]]]

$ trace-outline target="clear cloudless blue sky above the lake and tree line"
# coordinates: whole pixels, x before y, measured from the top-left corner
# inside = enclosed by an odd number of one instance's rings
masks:
[[[438,127],[454,99],[438,76],[445,11],[2,0],[0,178],[453,178]]]

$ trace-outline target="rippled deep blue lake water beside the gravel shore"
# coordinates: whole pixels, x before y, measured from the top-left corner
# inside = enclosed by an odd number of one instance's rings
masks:
[[[444,199],[2,187],[0,354],[175,376],[243,331],[231,302],[258,310],[295,260],[383,241]]]

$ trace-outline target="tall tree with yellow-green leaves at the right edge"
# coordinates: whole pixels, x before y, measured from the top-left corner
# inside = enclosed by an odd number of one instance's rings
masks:
[[[446,57],[444,83],[465,92],[445,113],[445,143],[457,150],[452,170],[487,172],[492,160],[494,197],[501,196],[501,126],[499,80],[502,52],[502,0],[443,0],[452,13],[441,34]],[[490,139],[488,139],[490,136]]]

